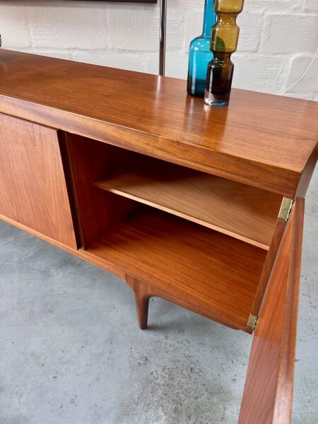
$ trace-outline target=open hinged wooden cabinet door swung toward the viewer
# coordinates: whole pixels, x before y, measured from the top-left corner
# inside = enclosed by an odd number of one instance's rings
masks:
[[[304,204],[295,200],[261,305],[239,424],[290,423]]]

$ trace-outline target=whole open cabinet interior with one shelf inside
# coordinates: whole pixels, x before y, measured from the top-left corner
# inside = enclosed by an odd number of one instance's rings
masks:
[[[282,196],[80,136],[66,141],[88,259],[248,331]]]

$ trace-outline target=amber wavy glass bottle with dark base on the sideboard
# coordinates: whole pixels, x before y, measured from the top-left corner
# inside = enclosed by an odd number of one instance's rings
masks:
[[[234,65],[230,57],[237,49],[240,28],[237,15],[242,12],[244,0],[215,0],[216,24],[211,30],[210,49],[213,60],[208,64],[204,102],[225,106],[230,101]]]

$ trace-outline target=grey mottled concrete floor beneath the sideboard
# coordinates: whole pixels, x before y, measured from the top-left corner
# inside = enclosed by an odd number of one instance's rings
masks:
[[[318,423],[318,172],[307,196],[293,423]],[[251,336],[151,301],[0,224],[0,423],[235,423]]]

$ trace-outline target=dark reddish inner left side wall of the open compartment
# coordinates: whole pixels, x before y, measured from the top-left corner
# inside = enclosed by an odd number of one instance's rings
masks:
[[[75,134],[65,134],[65,143],[81,228],[81,246],[86,248],[136,206],[136,202],[130,199],[94,187],[94,182],[105,172],[122,166],[129,152],[117,155],[118,148]]]

